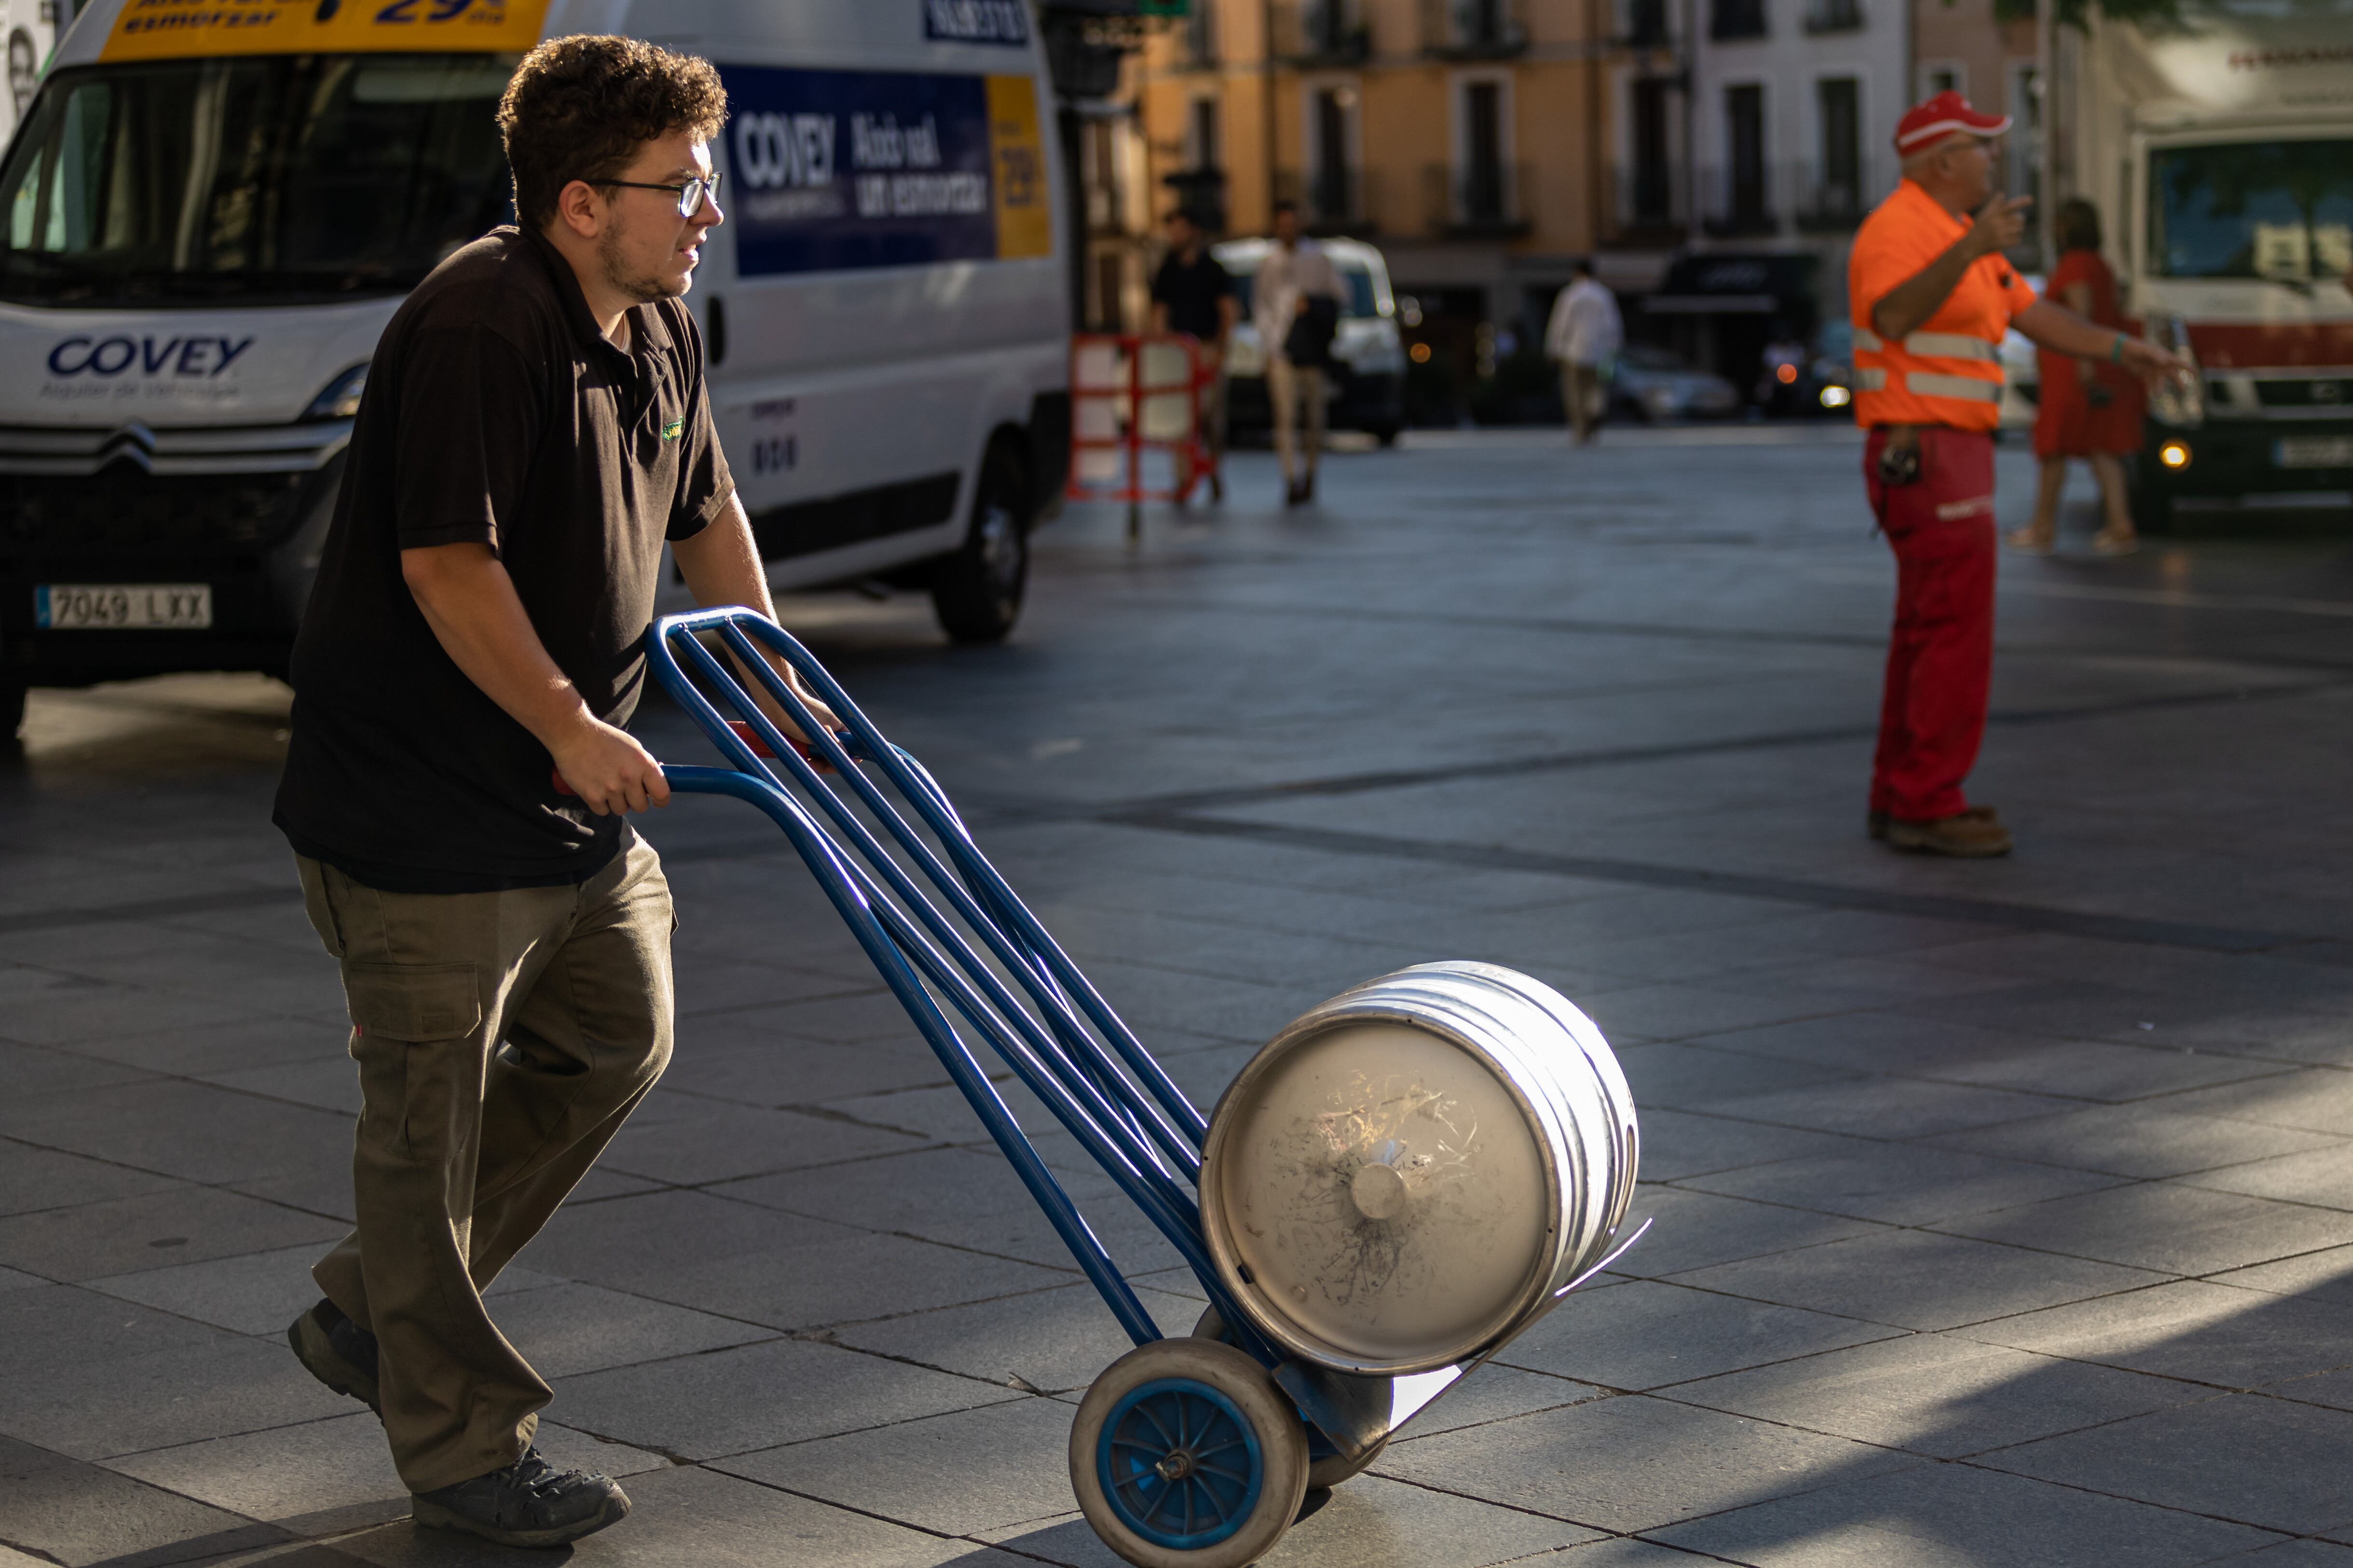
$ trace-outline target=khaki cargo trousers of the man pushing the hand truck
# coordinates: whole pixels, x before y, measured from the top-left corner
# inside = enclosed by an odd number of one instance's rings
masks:
[[[412,1493],[513,1464],[548,1384],[482,1309],[671,1059],[671,885],[633,841],[576,888],[379,892],[296,857],[344,961],[360,1227],[311,1274],[379,1342]]]

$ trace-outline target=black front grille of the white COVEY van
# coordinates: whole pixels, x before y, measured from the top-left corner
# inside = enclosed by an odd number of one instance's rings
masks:
[[[304,473],[155,478],[108,464],[89,478],[0,476],[9,556],[252,556],[301,520]]]

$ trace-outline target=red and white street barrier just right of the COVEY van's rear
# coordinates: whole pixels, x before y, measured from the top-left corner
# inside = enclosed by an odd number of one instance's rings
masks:
[[[1127,501],[1127,532],[1144,501],[1184,504],[1214,469],[1200,428],[1217,360],[1176,332],[1071,337],[1073,501]]]

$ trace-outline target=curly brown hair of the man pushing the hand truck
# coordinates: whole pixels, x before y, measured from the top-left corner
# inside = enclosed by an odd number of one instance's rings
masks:
[[[725,122],[727,89],[706,59],[638,38],[551,38],[499,99],[515,214],[541,228],[574,179],[619,179],[647,141],[675,129],[711,141]]]

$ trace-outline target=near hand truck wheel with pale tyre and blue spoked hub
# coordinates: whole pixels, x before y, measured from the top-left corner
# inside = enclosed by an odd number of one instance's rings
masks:
[[[1071,1488],[1136,1568],[1242,1568],[1308,1490],[1306,1427],[1257,1361],[1214,1340],[1155,1340],[1094,1380],[1071,1422]]]

